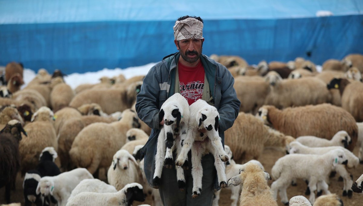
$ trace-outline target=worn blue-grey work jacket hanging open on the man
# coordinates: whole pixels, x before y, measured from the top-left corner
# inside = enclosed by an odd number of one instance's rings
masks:
[[[141,155],[145,158],[144,171],[149,185],[152,185],[155,171],[154,157],[156,154],[156,142],[160,132],[159,111],[165,100],[175,93],[175,74],[179,57],[180,53],[177,52],[164,57],[163,61],[154,65],[144,78],[140,93],[136,97],[138,116],[152,129],[146,145],[141,149]],[[205,77],[209,83],[210,94],[213,98],[211,103],[214,104],[220,114],[219,135],[224,145],[224,131],[232,127],[234,120],[238,116],[241,104],[233,88],[234,78],[225,66],[204,54],[200,55],[200,60],[203,64]],[[217,180],[216,177],[215,180]],[[217,181],[215,181],[214,188],[220,189]]]

